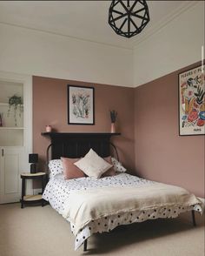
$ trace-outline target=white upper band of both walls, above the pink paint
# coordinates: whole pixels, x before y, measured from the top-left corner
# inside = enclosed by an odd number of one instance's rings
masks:
[[[136,87],[201,60],[202,44],[203,1],[134,51],[0,24],[0,71]]]

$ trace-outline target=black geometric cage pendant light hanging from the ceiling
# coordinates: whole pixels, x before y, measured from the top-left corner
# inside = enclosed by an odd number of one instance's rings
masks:
[[[122,37],[139,34],[149,23],[149,9],[145,0],[113,0],[109,7],[109,25]]]

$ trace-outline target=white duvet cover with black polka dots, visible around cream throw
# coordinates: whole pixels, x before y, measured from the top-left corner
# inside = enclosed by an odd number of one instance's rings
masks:
[[[69,193],[77,190],[87,190],[95,187],[106,186],[141,186],[154,183],[154,181],[140,179],[128,173],[118,172],[115,176],[102,179],[79,178],[63,179],[63,174],[57,174],[51,178],[43,192],[43,199],[50,202],[50,205],[60,214],[63,214],[64,205],[68,202]],[[142,222],[147,219],[157,218],[175,218],[181,212],[187,211],[202,212],[200,205],[177,206],[177,207],[158,207],[153,210],[126,212],[122,214],[110,215],[101,219],[92,220],[87,226],[84,226],[76,235],[75,250],[82,246],[85,239],[88,239],[96,232],[110,232],[116,226],[128,225],[134,222]],[[67,219],[69,221],[69,219]],[[73,232],[75,226],[70,222],[70,228]]]

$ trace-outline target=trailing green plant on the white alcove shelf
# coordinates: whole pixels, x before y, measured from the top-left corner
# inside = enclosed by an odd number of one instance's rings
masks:
[[[19,117],[21,118],[21,113],[23,112],[23,102],[21,96],[13,95],[9,98],[9,110],[8,117],[10,116],[10,110],[13,107],[14,109],[14,121],[15,126],[17,126],[17,110],[19,110]]]

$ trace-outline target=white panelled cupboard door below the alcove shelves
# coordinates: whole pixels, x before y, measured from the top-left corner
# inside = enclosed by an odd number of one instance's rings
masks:
[[[21,196],[21,149],[1,147],[0,204],[18,202]]]

